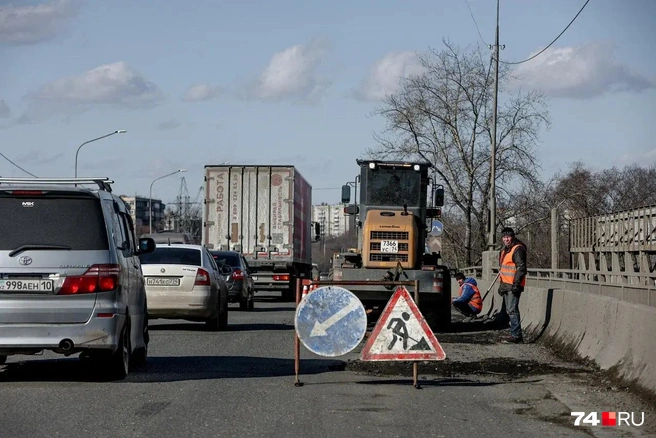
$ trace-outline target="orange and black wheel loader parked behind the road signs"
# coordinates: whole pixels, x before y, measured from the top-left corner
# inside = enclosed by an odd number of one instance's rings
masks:
[[[371,315],[376,315],[375,309],[382,310],[394,288],[367,282],[419,280],[419,310],[433,329],[447,329],[451,323],[450,272],[440,253],[429,252],[426,245],[427,237],[436,234],[434,229],[441,232],[436,218],[444,203],[444,188],[429,177],[432,165],[379,160],[357,163],[359,204],[356,199],[344,212],[355,216],[358,247],[333,255],[330,278],[360,282],[345,287]],[[349,204],[350,199],[351,187],[346,184],[342,203]]]

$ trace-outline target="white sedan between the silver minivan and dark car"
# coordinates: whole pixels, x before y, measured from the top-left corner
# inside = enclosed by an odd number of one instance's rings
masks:
[[[230,267],[220,270],[205,247],[160,243],[139,258],[149,318],[200,320],[212,330],[227,328],[228,288],[222,274],[230,274]]]

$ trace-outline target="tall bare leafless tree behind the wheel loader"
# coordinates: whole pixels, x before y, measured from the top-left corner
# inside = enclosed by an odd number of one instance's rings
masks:
[[[433,163],[456,207],[449,214],[459,215],[465,225],[464,235],[447,231],[445,243],[464,246],[464,262],[471,265],[485,247],[489,221],[494,78],[491,59],[480,48],[462,51],[443,42],[443,50],[419,56],[424,72],[401,80],[400,91],[374,112],[387,126],[382,135],[375,135],[378,144],[367,154]],[[500,91],[508,79],[510,71],[502,67]],[[501,201],[512,196],[511,187],[538,182],[534,150],[540,130],[549,126],[543,96],[504,94],[497,121],[496,184]]]

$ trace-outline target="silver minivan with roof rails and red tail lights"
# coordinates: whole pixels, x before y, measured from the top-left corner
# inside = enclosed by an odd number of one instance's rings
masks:
[[[122,379],[148,355],[134,225],[107,178],[0,178],[0,364],[81,353]],[[97,187],[87,187],[93,184]]]

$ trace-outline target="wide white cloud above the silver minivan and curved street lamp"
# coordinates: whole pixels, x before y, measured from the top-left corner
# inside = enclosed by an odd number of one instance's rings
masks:
[[[152,108],[163,98],[155,84],[122,61],[57,79],[27,97],[30,103],[23,121],[42,119],[54,112],[75,114],[98,105]]]

